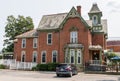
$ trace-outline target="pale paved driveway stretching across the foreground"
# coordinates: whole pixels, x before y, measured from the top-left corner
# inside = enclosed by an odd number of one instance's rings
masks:
[[[0,70],[0,81],[120,81],[120,75],[84,74],[56,77],[55,72]]]

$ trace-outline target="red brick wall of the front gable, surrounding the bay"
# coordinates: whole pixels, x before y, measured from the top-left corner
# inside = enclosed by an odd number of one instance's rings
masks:
[[[83,50],[83,57],[84,61],[89,60],[89,51],[88,46],[90,44],[90,32],[85,27],[85,25],[81,22],[79,18],[70,18],[65,23],[63,29],[60,31],[60,62],[64,62],[64,46],[67,43],[70,43],[70,28],[71,27],[77,27],[78,28],[78,43],[83,44],[84,50]]]

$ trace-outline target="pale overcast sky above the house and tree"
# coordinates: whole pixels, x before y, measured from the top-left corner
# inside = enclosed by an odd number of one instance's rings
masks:
[[[30,16],[37,28],[43,15],[69,12],[78,5],[82,6],[82,17],[88,20],[93,3],[102,11],[102,19],[108,20],[108,36],[120,37],[120,0],[0,0],[0,50],[7,16]]]

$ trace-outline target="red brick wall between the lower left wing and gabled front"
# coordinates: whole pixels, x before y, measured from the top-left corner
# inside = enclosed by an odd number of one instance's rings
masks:
[[[47,44],[47,34],[52,33],[52,45]],[[46,51],[47,63],[52,62],[52,51],[56,50],[59,53],[59,32],[39,32],[38,37],[38,60],[41,61],[41,52]],[[58,59],[59,60],[59,59]]]

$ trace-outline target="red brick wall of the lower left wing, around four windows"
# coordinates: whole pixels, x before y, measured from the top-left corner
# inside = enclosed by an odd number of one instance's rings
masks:
[[[32,61],[33,51],[37,51],[37,48],[33,48],[33,38],[26,38],[26,48],[21,48],[22,39],[19,38],[16,43],[14,43],[14,54],[17,58],[17,61],[21,61],[21,52],[25,51],[26,54],[26,62]]]

